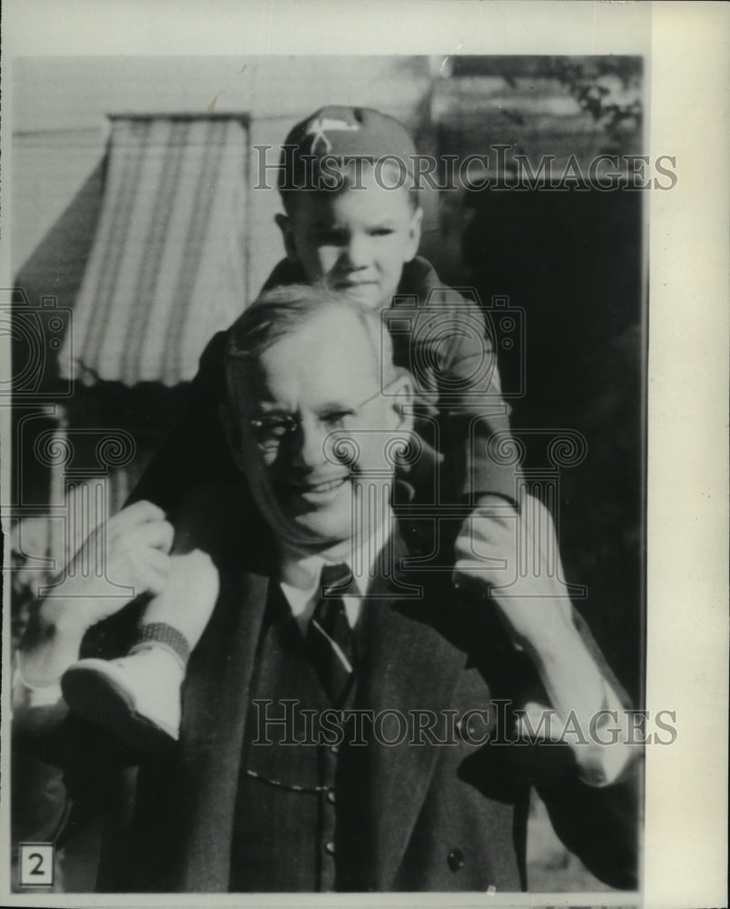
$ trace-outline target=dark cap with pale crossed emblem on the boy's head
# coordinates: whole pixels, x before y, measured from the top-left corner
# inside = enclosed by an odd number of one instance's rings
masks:
[[[281,151],[279,189],[305,186],[306,175],[329,158],[334,166],[349,159],[390,160],[413,174],[416,147],[399,120],[371,107],[321,107],[291,129]],[[402,163],[402,164],[401,164]]]

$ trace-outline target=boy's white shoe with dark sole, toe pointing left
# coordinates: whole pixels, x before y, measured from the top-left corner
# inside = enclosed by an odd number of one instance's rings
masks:
[[[162,647],[147,646],[116,660],[85,659],[61,678],[66,704],[143,751],[177,741],[181,664]]]

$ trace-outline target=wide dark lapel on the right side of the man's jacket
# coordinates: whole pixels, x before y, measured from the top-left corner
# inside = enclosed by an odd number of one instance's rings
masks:
[[[429,624],[429,604],[424,599],[402,599],[398,593],[399,584],[413,584],[413,574],[399,568],[406,552],[398,537],[394,582],[386,582],[392,598],[368,603],[366,666],[359,683],[362,703],[376,716],[386,712],[380,734],[397,740],[390,745],[373,742],[369,748],[368,860],[370,886],[379,891],[392,888],[439,754],[439,746],[425,739],[426,744],[410,744],[412,712],[428,709],[442,718],[466,662],[463,651]],[[402,741],[402,721],[395,712],[406,720],[408,732]],[[436,724],[434,734],[443,736],[443,721]]]

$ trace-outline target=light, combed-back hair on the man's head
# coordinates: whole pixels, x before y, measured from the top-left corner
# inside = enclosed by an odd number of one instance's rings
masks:
[[[311,319],[324,315],[328,310],[349,312],[362,326],[379,374],[390,381],[393,346],[390,334],[381,330],[380,310],[361,304],[344,291],[330,290],[321,285],[274,287],[244,309],[228,331],[226,375],[230,375],[230,368],[235,363],[257,362],[261,354],[282,337],[294,335]]]

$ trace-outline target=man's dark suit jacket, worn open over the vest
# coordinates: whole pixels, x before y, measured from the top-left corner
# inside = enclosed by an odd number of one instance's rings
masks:
[[[222,589],[188,667],[180,743],[136,769],[133,755],[78,724],[73,752],[65,754],[77,811],[96,777],[92,800],[104,801],[112,818],[100,890],[228,889],[242,743],[252,716],[249,685],[275,583],[271,540],[251,521],[237,520],[241,509],[251,514],[249,507],[236,490],[206,492],[181,527],[178,546],[207,549]],[[364,605],[369,620],[360,703],[407,716],[427,709],[460,718],[488,709],[493,724],[491,700],[518,705],[539,689],[537,675],[488,602],[455,592],[449,571],[424,573],[402,561],[422,559],[428,546],[416,524],[400,529],[397,570],[377,581],[372,592],[378,597]],[[419,585],[422,595],[408,595],[407,588]],[[472,737],[483,730],[478,724]],[[457,738],[449,745],[410,744],[408,738],[395,746],[370,743],[362,781],[368,798],[362,889],[524,888],[530,783],[538,785],[558,834],[595,874],[615,886],[635,885],[631,779],[592,789],[577,780],[565,747],[478,747]],[[104,765],[113,770],[99,780]]]

